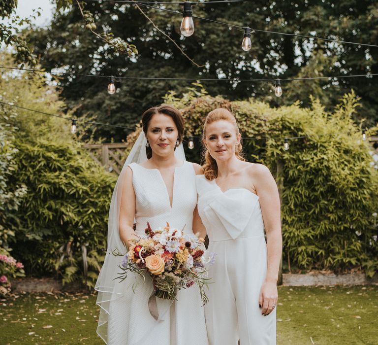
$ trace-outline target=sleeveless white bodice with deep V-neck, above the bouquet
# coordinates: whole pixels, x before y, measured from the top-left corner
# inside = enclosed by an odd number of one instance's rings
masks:
[[[144,234],[147,222],[153,228],[172,227],[192,231],[193,211],[197,203],[193,165],[184,162],[175,169],[172,206],[166,184],[158,169],[148,169],[136,163],[129,165],[136,197],[136,232]]]

